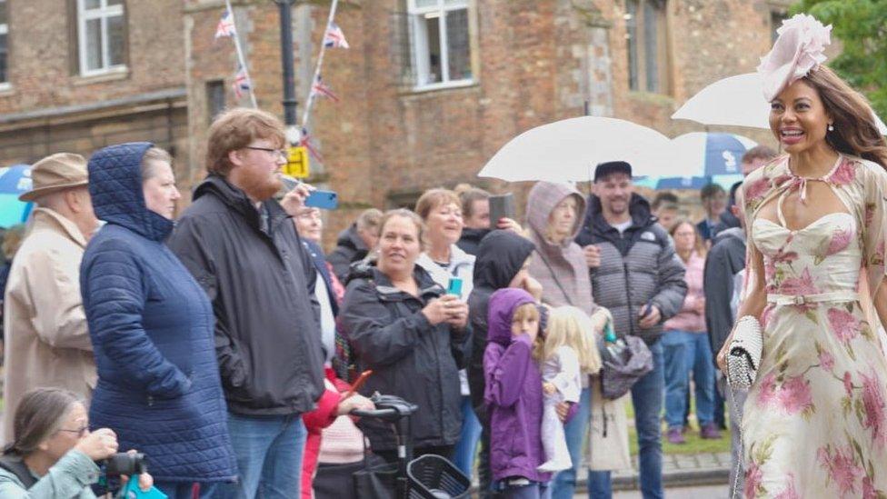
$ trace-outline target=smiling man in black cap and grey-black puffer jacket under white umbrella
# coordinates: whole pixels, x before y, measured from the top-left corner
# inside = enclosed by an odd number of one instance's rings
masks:
[[[684,267],[650,205],[633,193],[632,166],[602,163],[576,242],[591,269],[594,303],[610,310],[616,334],[639,336],[653,353],[653,371],[632,386],[644,499],[663,497],[663,322],[681,309]],[[600,401],[598,401],[599,403]],[[595,401],[592,401],[595,404]],[[592,452],[607,452],[592,449]],[[591,497],[610,497],[610,472],[589,473]],[[556,496],[556,494],[555,494]]]

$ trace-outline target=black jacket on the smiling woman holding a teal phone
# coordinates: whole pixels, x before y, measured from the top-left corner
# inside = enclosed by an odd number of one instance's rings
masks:
[[[462,431],[459,369],[470,334],[429,323],[422,309],[443,287],[418,265],[413,277],[418,297],[394,287],[375,267],[353,268],[339,310],[340,332],[354,348],[358,368],[373,370],[361,394],[392,394],[418,404],[411,420],[415,448],[452,445]],[[396,448],[388,424],[365,418],[361,426],[374,450]]]

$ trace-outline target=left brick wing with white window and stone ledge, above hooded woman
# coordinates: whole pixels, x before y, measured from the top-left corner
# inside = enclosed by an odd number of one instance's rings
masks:
[[[187,161],[179,0],[3,0],[0,10],[0,165],[133,140]]]

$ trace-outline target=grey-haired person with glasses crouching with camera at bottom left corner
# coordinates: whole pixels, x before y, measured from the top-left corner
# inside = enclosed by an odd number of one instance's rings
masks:
[[[0,497],[95,498],[90,485],[101,476],[96,462],[115,456],[117,436],[107,428],[89,431],[77,395],[58,388],[31,390],[15,410],[14,427],[15,440],[0,456]],[[138,481],[145,492],[154,483],[147,473]]]

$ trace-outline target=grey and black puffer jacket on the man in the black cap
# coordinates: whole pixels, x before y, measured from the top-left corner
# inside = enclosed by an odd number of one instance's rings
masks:
[[[601,248],[601,266],[591,271],[594,301],[613,314],[616,334],[633,334],[653,344],[663,334],[663,322],[681,310],[687,294],[683,262],[640,195],[632,195],[632,225],[623,234],[603,219],[601,209],[600,199],[589,196],[583,229],[576,238],[583,247]],[[662,319],[642,329],[638,314],[646,304],[656,305]]]

